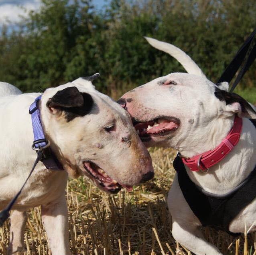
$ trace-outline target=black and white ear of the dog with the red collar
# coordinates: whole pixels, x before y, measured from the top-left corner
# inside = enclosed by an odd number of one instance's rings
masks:
[[[256,118],[256,111],[242,96],[219,88],[215,88],[214,94],[219,100],[226,102],[225,112],[237,113],[244,118]]]

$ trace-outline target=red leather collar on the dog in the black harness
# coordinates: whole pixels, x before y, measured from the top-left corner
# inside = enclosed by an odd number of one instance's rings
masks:
[[[210,167],[224,159],[234,146],[237,145],[242,131],[243,120],[238,116],[235,117],[234,125],[228,135],[222,140],[220,145],[211,151],[207,151],[192,158],[184,158],[182,161],[191,171],[202,171],[206,173]]]

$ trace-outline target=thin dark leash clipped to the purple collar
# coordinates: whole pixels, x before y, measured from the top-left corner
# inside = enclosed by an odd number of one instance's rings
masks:
[[[26,179],[26,181],[24,182],[24,184],[22,185],[20,191],[16,194],[16,196],[12,199],[12,201],[10,201],[10,203],[8,204],[8,206],[2,210],[0,212],[0,227],[2,227],[2,225],[4,224],[4,222],[8,219],[8,217],[10,217],[10,210],[12,209],[12,206],[14,205],[14,203],[16,202],[16,200],[18,199],[22,189],[24,188],[24,186],[26,185],[26,182],[28,181],[29,177],[32,175],[37,163],[42,159],[42,150],[40,149],[38,152],[37,152],[37,159]]]

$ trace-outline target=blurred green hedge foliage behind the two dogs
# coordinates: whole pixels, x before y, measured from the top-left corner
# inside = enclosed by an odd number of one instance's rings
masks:
[[[0,36],[0,80],[24,92],[100,72],[97,88],[117,98],[153,78],[184,71],[143,36],[178,46],[214,82],[256,24],[254,0],[112,0],[101,12],[90,0],[41,2],[18,29],[5,27]],[[255,67],[240,86],[254,86]]]

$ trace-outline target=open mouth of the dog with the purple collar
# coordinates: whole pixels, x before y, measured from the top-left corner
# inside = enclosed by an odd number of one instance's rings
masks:
[[[122,187],[126,188],[127,191],[132,191],[132,186],[124,185],[113,180],[103,169],[91,161],[84,161],[83,167],[107,192],[115,194],[118,193]]]

